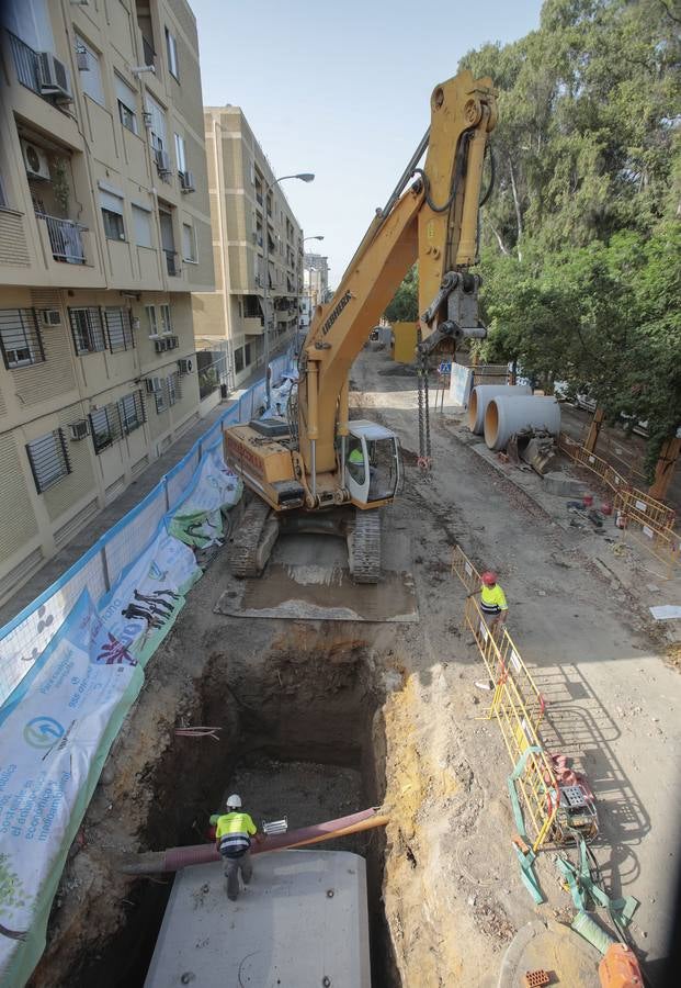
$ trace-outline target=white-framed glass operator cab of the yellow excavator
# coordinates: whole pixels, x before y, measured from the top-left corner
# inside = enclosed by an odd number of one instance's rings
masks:
[[[353,504],[378,507],[391,501],[402,475],[401,450],[395,433],[364,419],[349,423],[345,486]]]

